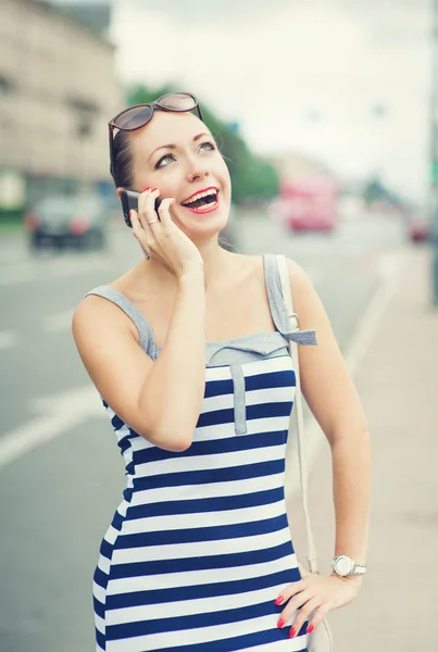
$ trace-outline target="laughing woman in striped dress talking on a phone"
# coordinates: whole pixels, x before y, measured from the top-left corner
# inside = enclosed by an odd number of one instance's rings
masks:
[[[110,143],[117,192],[142,190],[130,218],[145,256],[73,319],[128,478],[93,577],[97,649],[304,651],[362,579],[304,577],[290,540],[295,373],[275,256],[218,246],[230,178],[193,96],[122,112]],[[309,277],[288,268],[301,324],[318,334],[300,368],[333,452],[335,553],[364,563],[366,419]]]

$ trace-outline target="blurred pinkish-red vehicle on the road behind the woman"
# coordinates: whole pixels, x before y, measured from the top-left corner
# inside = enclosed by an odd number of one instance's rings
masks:
[[[325,178],[284,181],[283,222],[295,231],[333,231],[338,221],[338,187]]]

